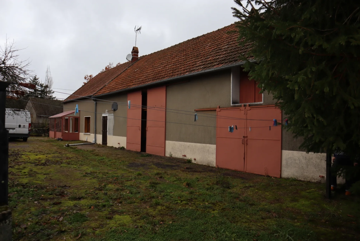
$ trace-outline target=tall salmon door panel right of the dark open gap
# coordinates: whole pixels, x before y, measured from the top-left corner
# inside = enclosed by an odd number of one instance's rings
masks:
[[[166,86],[148,89],[146,152],[165,156]]]

